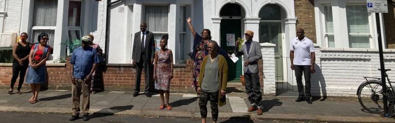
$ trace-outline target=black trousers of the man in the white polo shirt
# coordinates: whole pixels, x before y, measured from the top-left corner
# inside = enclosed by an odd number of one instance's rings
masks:
[[[295,77],[296,77],[296,84],[298,85],[298,92],[299,96],[303,97],[311,97],[310,89],[311,89],[311,72],[310,72],[310,65],[307,66],[299,66],[295,65]],[[303,83],[302,83],[302,75],[304,74],[304,81],[306,82],[306,86],[304,87],[303,92]]]

